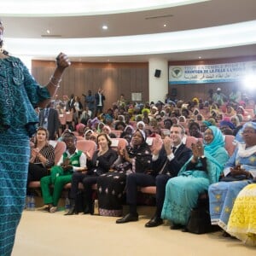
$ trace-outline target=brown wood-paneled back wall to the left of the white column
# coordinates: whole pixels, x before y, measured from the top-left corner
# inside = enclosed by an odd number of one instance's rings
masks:
[[[46,84],[55,70],[55,61],[32,61],[32,74],[39,84]],[[62,77],[60,98],[71,94],[84,96],[88,90],[96,94],[102,87],[106,95],[104,110],[112,107],[121,93],[131,100],[131,92],[143,92],[148,100],[148,63],[84,63],[73,62]]]

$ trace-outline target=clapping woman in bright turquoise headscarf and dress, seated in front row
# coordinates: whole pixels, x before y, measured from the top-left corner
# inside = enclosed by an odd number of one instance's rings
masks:
[[[166,198],[161,217],[172,221],[172,229],[188,223],[190,210],[196,207],[198,196],[217,183],[229,154],[224,148],[224,137],[216,126],[209,126],[201,142],[192,145],[193,155],[177,177],[166,184]]]

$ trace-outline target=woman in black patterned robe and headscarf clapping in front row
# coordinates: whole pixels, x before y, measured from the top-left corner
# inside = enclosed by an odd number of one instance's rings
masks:
[[[122,215],[126,176],[133,172],[148,172],[151,160],[145,132],[137,129],[132,135],[131,144],[119,151],[113,172],[105,173],[97,180],[100,215]]]

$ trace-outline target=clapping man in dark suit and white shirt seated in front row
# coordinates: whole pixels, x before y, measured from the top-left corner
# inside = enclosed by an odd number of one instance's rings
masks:
[[[116,223],[122,224],[137,221],[137,186],[147,187],[156,185],[156,212],[146,227],[156,227],[163,223],[160,218],[161,210],[166,195],[166,183],[171,177],[176,177],[183,164],[189,160],[192,152],[183,143],[185,130],[182,125],[172,125],[170,137],[164,139],[164,144],[156,139],[153,157],[153,172],[158,174],[153,181],[145,174],[145,177],[137,176],[136,173],[126,179],[126,201],[130,205],[130,212],[124,218],[119,218]]]

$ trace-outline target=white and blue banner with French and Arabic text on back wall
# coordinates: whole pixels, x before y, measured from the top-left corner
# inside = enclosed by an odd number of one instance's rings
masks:
[[[169,84],[236,82],[256,74],[256,61],[214,65],[169,66]]]

